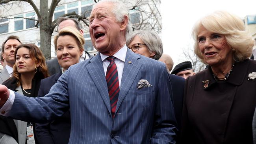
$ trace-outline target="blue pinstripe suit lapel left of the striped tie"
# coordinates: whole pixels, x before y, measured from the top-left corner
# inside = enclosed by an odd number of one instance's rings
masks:
[[[98,89],[102,100],[104,101],[109,113],[111,114],[110,99],[108,96],[108,86],[104,74],[104,69],[102,65],[102,60],[100,54],[98,53],[93,59],[89,60],[87,65],[87,70]]]

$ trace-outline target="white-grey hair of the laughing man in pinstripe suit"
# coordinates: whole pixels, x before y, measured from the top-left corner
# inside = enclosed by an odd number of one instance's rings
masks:
[[[111,11],[115,14],[115,18],[117,19],[118,22],[123,22],[124,16],[128,17],[128,24],[127,24],[126,33],[125,33],[127,37],[130,31],[132,31],[132,26],[130,23],[130,13],[126,5],[119,0],[101,0],[97,4],[100,4],[102,2],[109,2],[113,4],[113,9],[111,9]]]

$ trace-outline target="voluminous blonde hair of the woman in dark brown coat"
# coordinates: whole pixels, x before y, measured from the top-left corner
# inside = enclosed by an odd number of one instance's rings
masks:
[[[245,30],[243,20],[225,11],[217,11],[200,19],[194,26],[192,37],[195,40],[195,54],[205,63],[203,54],[198,48],[200,26],[213,33],[223,34],[227,44],[232,48],[234,61],[243,61],[252,55],[254,41]]]

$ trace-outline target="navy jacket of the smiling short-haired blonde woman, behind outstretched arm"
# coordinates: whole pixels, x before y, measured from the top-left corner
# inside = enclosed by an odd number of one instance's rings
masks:
[[[45,96],[57,82],[62,72],[41,80],[38,96]],[[39,144],[68,144],[70,135],[70,111],[52,122],[37,123],[36,136]]]

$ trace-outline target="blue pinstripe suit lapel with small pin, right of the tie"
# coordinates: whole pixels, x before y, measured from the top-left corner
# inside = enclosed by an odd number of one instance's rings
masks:
[[[122,73],[121,87],[119,92],[119,97],[117,101],[116,111],[119,109],[122,101],[124,100],[128,90],[132,86],[134,79],[136,78],[139,69],[141,68],[141,63],[137,60],[139,55],[134,54],[131,50],[127,50],[126,57],[124,61],[124,70]]]

